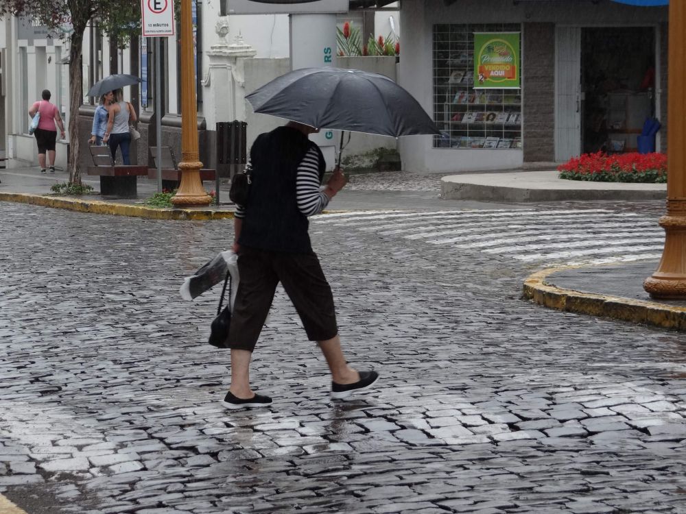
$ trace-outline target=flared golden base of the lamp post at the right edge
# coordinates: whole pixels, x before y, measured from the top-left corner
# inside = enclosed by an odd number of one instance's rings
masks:
[[[665,249],[657,271],[643,281],[643,289],[655,299],[686,299],[686,216],[663,216],[660,225],[665,229]]]

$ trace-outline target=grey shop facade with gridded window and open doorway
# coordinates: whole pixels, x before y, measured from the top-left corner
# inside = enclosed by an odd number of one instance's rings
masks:
[[[665,151],[666,7],[404,0],[402,8],[399,83],[442,131],[402,138],[403,168],[512,169],[585,152],[636,151],[650,117],[661,121],[656,145]],[[480,87],[479,34],[519,50],[512,56],[517,87]]]

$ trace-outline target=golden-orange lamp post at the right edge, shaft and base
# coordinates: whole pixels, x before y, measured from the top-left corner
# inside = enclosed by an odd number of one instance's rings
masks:
[[[686,299],[686,1],[670,1],[667,84],[667,215],[660,265],[643,282],[653,298]]]

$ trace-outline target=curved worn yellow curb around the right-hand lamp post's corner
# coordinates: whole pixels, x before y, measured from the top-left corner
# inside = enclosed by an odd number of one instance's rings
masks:
[[[567,266],[544,269],[529,276],[523,285],[523,298],[545,307],[568,313],[588,314],[686,332],[686,308],[619,296],[584,293],[562,289],[546,282],[556,271],[578,269]]]

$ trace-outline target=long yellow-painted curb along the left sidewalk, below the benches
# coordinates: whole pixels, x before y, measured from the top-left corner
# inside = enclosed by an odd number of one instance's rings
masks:
[[[194,209],[156,209],[152,207],[117,204],[101,200],[82,200],[45,195],[31,195],[28,193],[0,193],[0,201],[16,201],[20,204],[32,204],[56,209],[75,210],[77,212],[92,212],[94,214],[131,216],[147,219],[174,220],[212,220],[233,219],[232,210],[211,210],[207,208]]]

